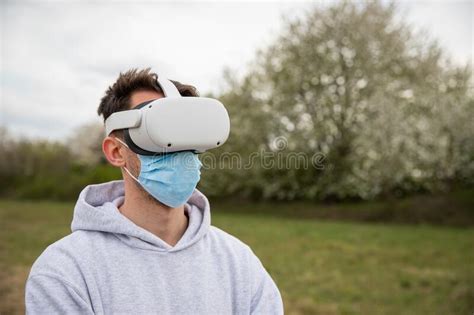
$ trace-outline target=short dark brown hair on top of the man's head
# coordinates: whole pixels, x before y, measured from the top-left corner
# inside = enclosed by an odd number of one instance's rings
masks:
[[[117,81],[108,87],[104,97],[100,100],[97,113],[103,116],[104,121],[113,113],[130,108],[130,96],[135,91],[151,90],[163,93],[156,82],[158,75],[150,72],[150,68],[138,70],[130,69],[120,73]],[[199,96],[198,91],[192,85],[181,84],[173,81],[182,96]]]

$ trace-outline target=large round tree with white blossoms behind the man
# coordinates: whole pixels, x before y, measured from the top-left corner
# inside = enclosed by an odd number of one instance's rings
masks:
[[[287,151],[323,153],[325,168],[219,170],[218,194],[372,198],[472,178],[469,65],[450,64],[394,4],[344,1],[285,25],[243,79],[227,74],[227,149],[248,157],[284,137]]]

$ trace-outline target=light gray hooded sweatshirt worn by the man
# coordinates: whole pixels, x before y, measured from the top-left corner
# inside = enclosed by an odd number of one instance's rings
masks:
[[[175,246],[118,211],[123,181],[87,186],[72,233],[36,260],[28,314],[283,314],[274,281],[250,247],[211,226],[195,190]]]

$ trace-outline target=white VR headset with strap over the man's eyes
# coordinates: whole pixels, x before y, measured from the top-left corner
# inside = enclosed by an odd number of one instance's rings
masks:
[[[125,143],[141,155],[201,153],[226,142],[230,120],[221,102],[207,97],[182,97],[167,79],[158,78],[157,83],[165,97],[113,113],[105,121],[106,136],[123,130]]]

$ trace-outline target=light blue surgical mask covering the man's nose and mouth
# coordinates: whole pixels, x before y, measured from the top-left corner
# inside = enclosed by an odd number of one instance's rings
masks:
[[[117,140],[127,146],[120,139]],[[128,146],[127,146],[128,147]],[[201,161],[191,151],[161,155],[141,155],[138,179],[124,167],[150,195],[161,203],[176,208],[188,201],[201,177]]]

